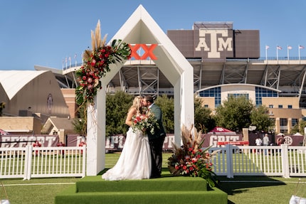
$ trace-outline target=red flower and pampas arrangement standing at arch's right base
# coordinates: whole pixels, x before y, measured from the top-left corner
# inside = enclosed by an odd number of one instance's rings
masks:
[[[194,130],[194,131],[192,131]],[[194,132],[194,134],[193,134]],[[204,178],[209,186],[218,185],[216,173],[213,173],[212,156],[217,153],[209,153],[209,148],[202,149],[204,139],[201,138],[201,131],[196,128],[190,130],[183,125],[181,128],[181,139],[183,146],[174,146],[174,154],[168,159],[168,168],[174,176],[193,176]]]

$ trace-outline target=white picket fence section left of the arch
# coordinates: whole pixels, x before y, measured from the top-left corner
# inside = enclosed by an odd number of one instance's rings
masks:
[[[0,178],[85,176],[86,146],[0,148]]]

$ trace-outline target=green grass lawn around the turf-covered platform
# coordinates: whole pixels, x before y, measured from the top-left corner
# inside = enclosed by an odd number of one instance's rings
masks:
[[[167,159],[171,154],[164,154],[163,168],[167,168]],[[105,167],[115,165],[120,154],[106,154]],[[81,178],[33,178],[30,181],[21,179],[2,179],[11,204],[51,204],[61,190],[74,185]],[[228,203],[289,203],[296,190],[297,194],[306,197],[306,183],[297,182],[299,178],[280,178],[266,176],[236,176],[235,178],[219,177],[221,189],[228,193]],[[306,178],[302,178],[306,182]],[[3,196],[3,189],[0,195]],[[122,203],[123,204],[123,203]]]

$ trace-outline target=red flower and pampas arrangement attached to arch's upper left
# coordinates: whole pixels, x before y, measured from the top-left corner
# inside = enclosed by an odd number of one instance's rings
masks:
[[[93,50],[85,50],[83,65],[75,73],[79,82],[75,91],[79,105],[93,104],[97,90],[102,88],[100,78],[110,72],[110,64],[122,63],[131,55],[130,46],[121,40],[114,40],[111,45],[105,44],[106,35],[101,39],[100,21],[95,32],[91,31],[91,38]]]

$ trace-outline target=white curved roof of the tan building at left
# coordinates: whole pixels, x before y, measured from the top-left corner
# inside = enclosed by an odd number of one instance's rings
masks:
[[[11,100],[28,82],[47,71],[0,70],[0,84]]]

